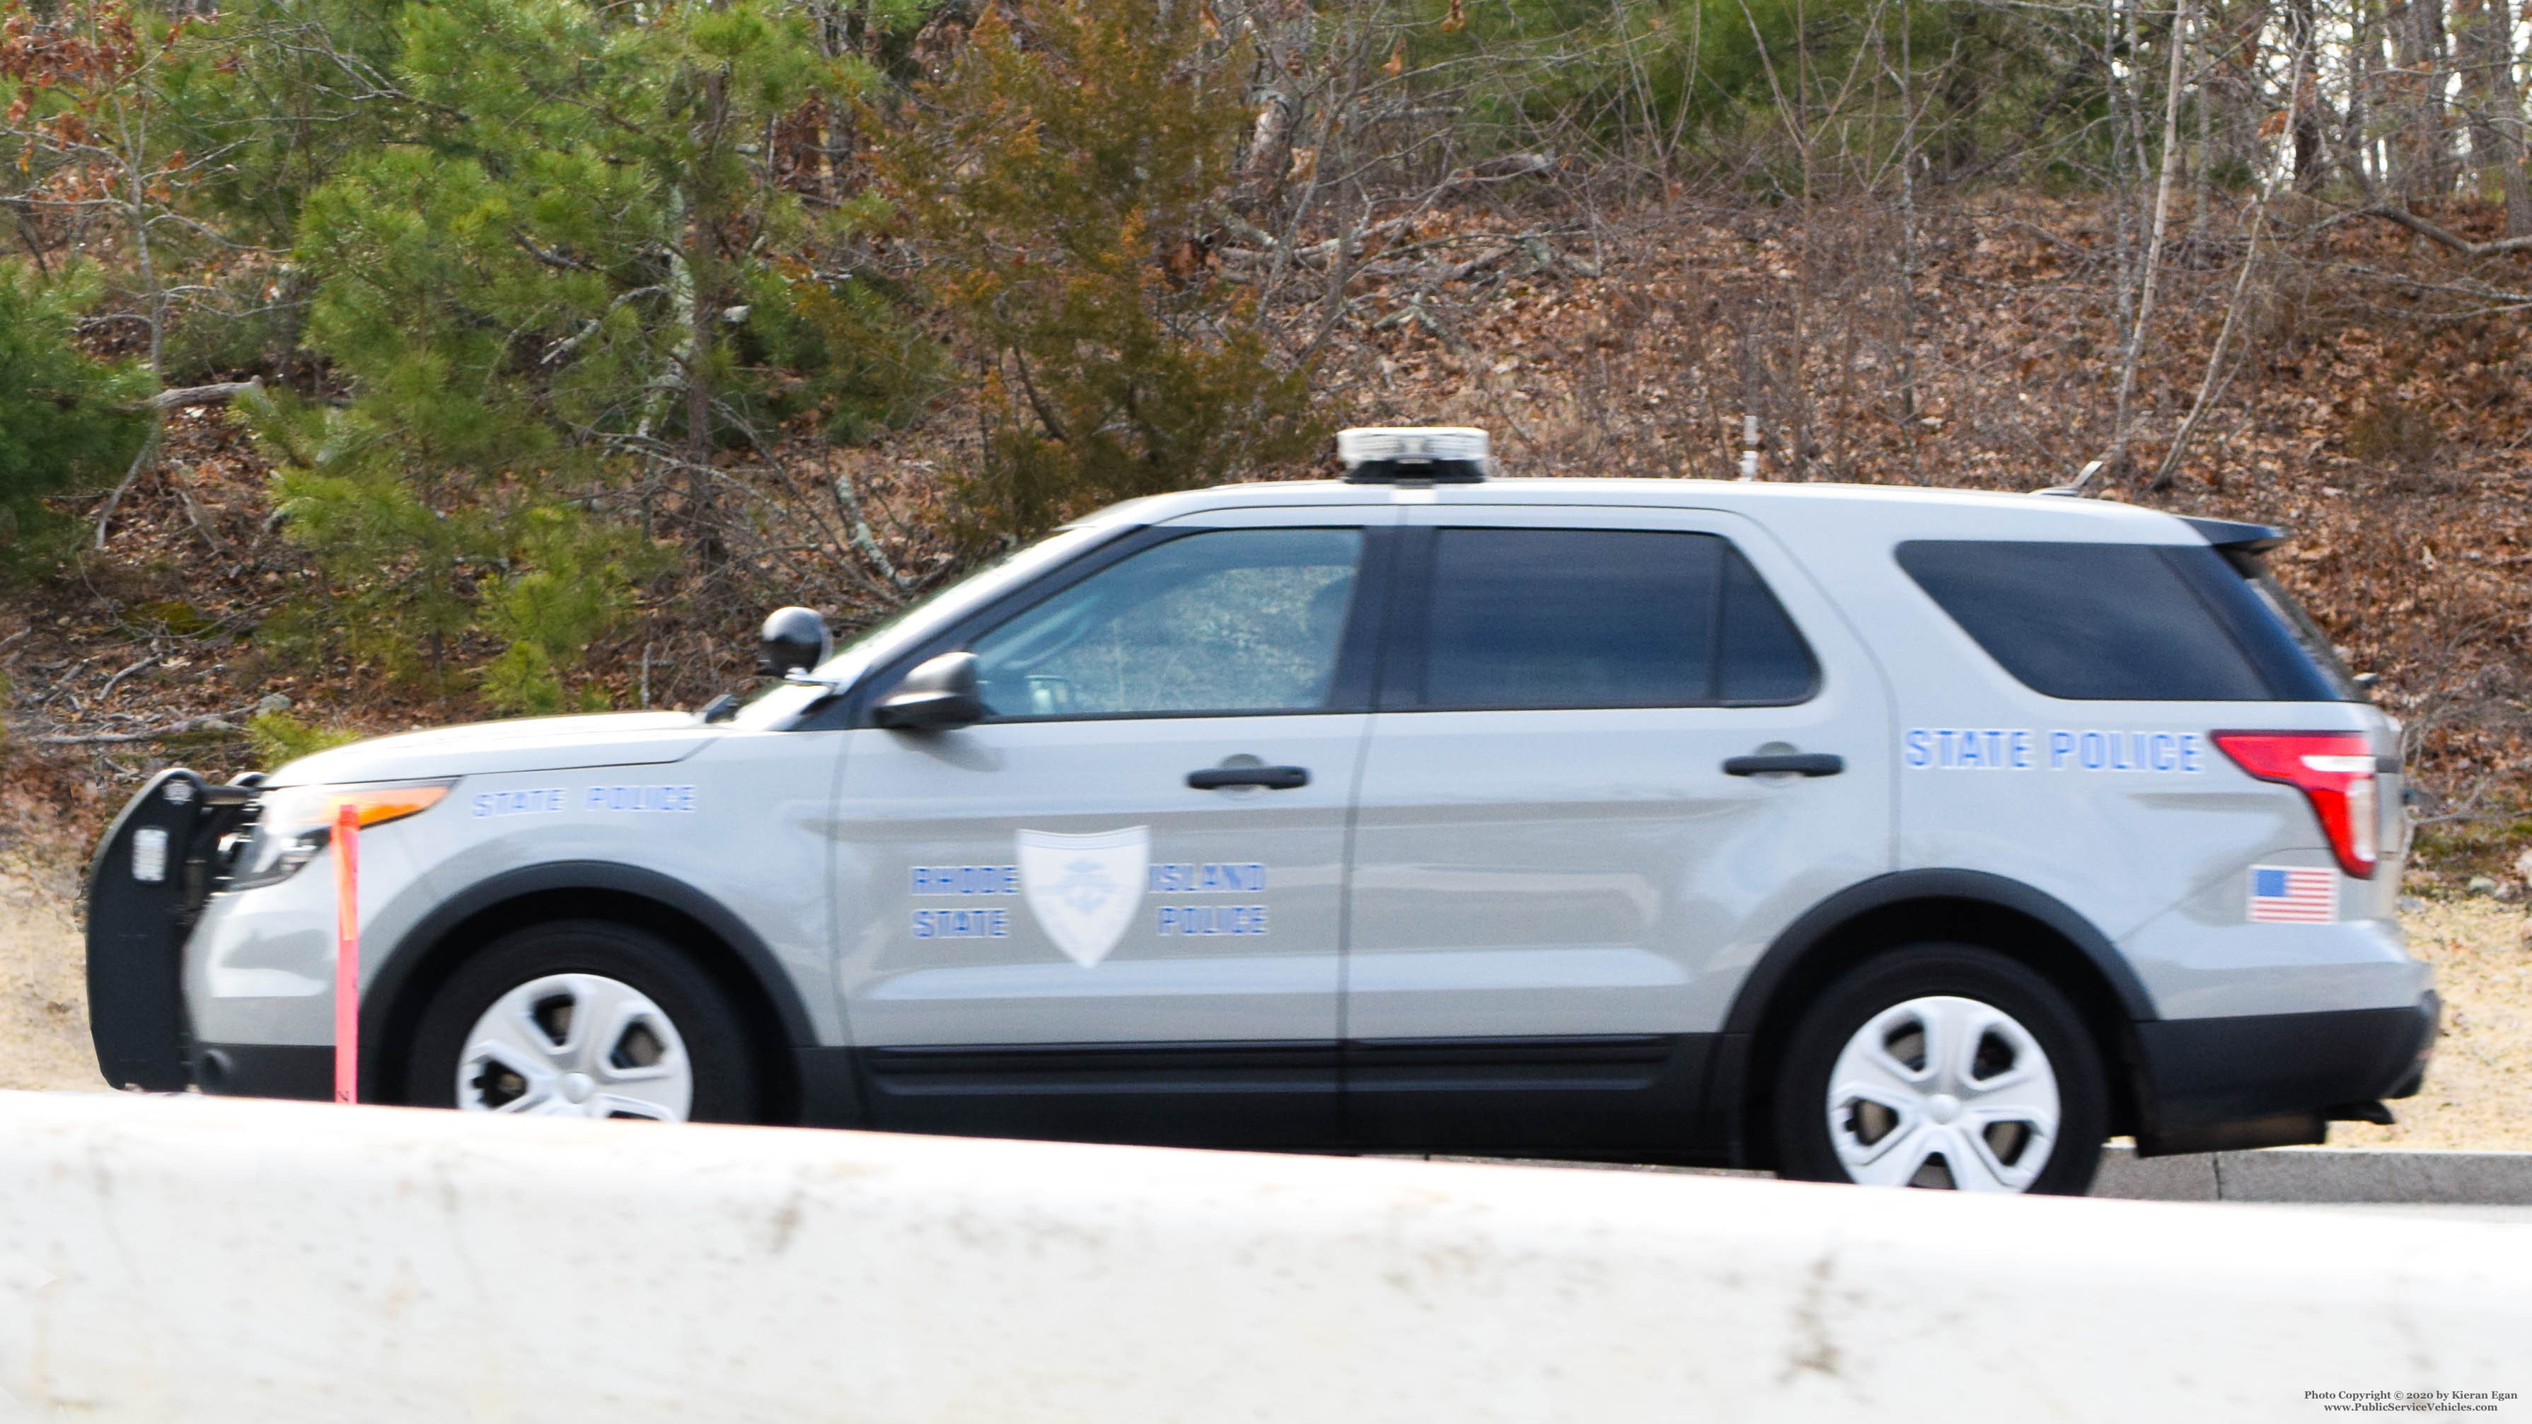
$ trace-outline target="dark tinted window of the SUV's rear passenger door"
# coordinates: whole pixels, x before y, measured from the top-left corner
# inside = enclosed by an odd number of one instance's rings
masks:
[[[1420,707],[1765,704],[1815,682],[1793,621],[1714,535],[1436,532]]]

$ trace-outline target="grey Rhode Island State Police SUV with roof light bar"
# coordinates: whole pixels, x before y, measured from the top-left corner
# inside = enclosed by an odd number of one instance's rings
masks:
[[[2094,499],[1489,479],[1119,504],[704,715],[160,773],[96,854],[111,1082],[2084,1191],[2390,1120],[2436,1031],[2398,725]]]

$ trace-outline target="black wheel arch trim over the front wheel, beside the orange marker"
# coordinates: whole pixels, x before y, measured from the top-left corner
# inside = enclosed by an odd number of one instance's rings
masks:
[[[615,920],[674,940],[747,1021],[765,1084],[762,1117],[798,1122],[800,1059],[818,1036],[775,953],[701,889],[608,861],[552,861],[486,877],[436,905],[380,960],[360,1006],[365,1102],[405,1100],[405,1054],[430,996],[489,940],[552,920]]]

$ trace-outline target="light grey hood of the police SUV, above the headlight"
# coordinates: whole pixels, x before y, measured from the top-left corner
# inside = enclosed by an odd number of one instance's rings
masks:
[[[595,717],[519,717],[375,737],[299,758],[273,785],[405,780],[423,775],[499,775],[592,765],[656,765],[694,755],[719,737],[694,712],[605,712]]]

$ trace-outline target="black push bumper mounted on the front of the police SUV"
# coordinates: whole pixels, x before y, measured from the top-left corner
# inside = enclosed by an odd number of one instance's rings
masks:
[[[185,768],[149,778],[89,861],[89,1036],[114,1087],[192,1082],[182,955],[261,778],[210,785]]]

